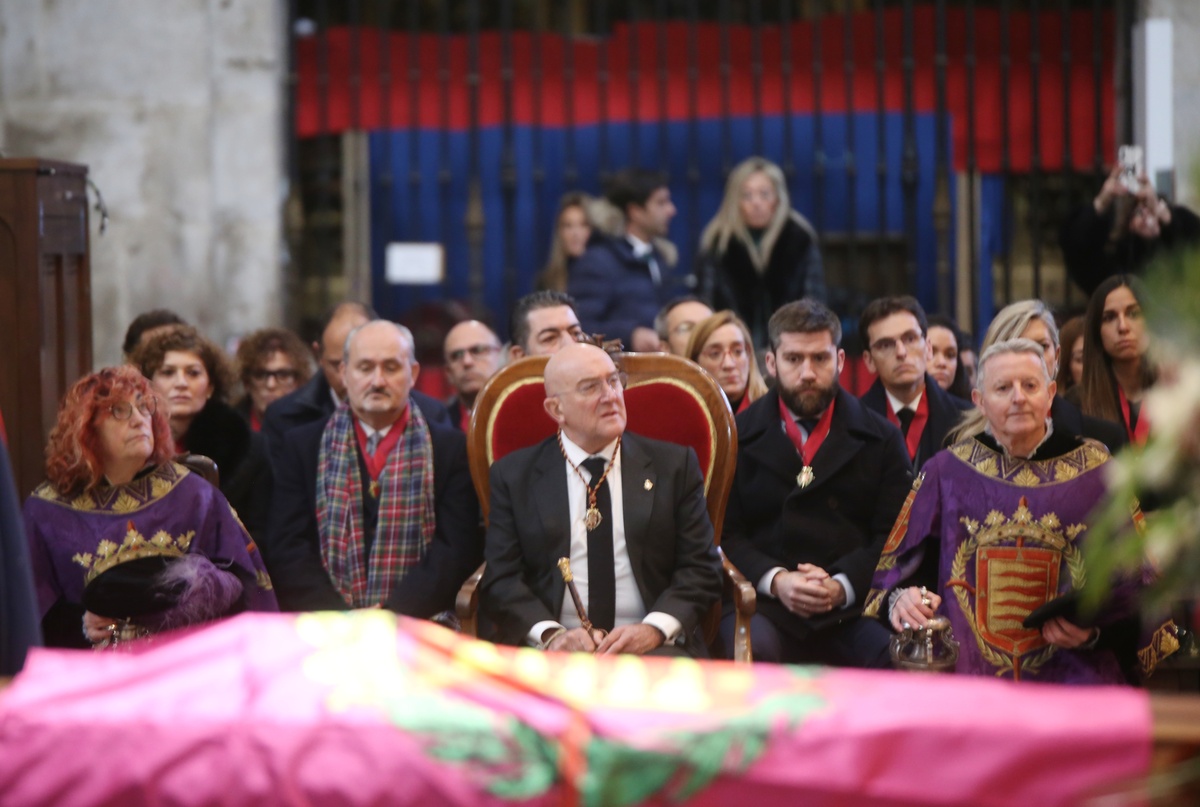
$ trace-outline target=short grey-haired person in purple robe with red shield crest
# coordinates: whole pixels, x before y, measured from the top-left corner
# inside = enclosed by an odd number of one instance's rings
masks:
[[[1130,582],[1116,586],[1097,614],[1063,608],[1026,627],[1036,609],[1066,605],[1070,598],[1060,598],[1082,586],[1087,518],[1106,491],[1108,452],[1054,430],[1054,395],[1036,342],[1014,339],[984,352],[972,399],[985,430],[924,466],[864,614],[894,630],[948,617],[960,645],[958,672],[1123,683],[1138,645]],[[1170,652],[1172,638],[1156,635],[1136,652],[1142,674]]]

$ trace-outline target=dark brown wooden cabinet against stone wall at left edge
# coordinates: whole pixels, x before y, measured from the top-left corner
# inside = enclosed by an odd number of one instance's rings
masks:
[[[59,401],[91,371],[88,168],[0,160],[0,413],[22,498]]]

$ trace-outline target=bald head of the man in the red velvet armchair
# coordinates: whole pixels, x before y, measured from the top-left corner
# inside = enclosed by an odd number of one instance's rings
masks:
[[[599,347],[563,347],[546,363],[545,383],[546,412],[583,450],[594,454],[625,431],[622,376]]]

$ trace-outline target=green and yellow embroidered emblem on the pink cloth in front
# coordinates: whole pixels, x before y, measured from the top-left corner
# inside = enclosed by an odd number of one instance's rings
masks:
[[[504,800],[557,790],[584,807],[682,802],[827,707],[817,668],[772,668],[755,687],[751,668],[514,651],[406,624],[397,646],[385,611],[300,616],[317,647],[305,671],[332,687],[330,711],[379,711]]]

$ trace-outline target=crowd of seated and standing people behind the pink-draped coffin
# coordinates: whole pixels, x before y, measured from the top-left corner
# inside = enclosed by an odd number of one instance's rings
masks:
[[[169,311],[138,317],[122,346],[130,364],[80,379],[62,402],[47,482],[24,508],[47,642],[113,642],[126,621],[85,608],[85,592],[120,566],[114,552],[162,532],[174,543],[148,591],[182,593],[138,616],[144,632],[276,608],[385,608],[455,627],[458,588],[486,560],[487,638],[702,658],[733,645],[728,603],[724,641],[698,633],[722,596],[719,526],[757,594],[756,660],[888,666],[894,632],[942,614],[966,648],[964,672],[1146,674],[1132,600],[1087,624],[1064,614],[1000,638],[980,629],[979,598],[1010,581],[974,572],[976,558],[989,540],[1007,544],[964,526],[1019,508],[1085,524],[1110,452],[1145,441],[1141,401],[1157,371],[1136,279],[1099,282],[1063,341],[1042,301],[1007,306],[974,373],[953,319],[907,295],[872,300],[858,335],[876,379],[857,397],[839,381],[842,327],[821,299],[815,233],[778,174],[762,160],[731,174],[694,294],[680,294],[661,249],[674,214],[662,177],[616,178],[616,232],[592,223],[592,201],[564,199],[544,288],[514,306],[509,343],[475,319],[446,333],[449,401],[416,389],[413,334],[359,303],[330,310],[311,346],[254,331],[236,363]],[[737,456],[721,525],[708,520],[696,454],[626,430],[624,376],[600,335],[691,359],[724,393]],[[544,410],[558,431],[494,464],[485,525],[466,432],[488,379],[526,357],[550,357]],[[216,484],[186,454],[214,460]],[[1051,490],[1064,462],[1069,507]],[[1018,478],[1014,494],[1006,480]],[[1044,532],[1039,562],[1062,573],[1036,604],[1080,582],[1086,543],[1086,532]],[[547,561],[560,556],[578,561],[590,623]],[[203,593],[170,576],[184,560],[208,580]]]

